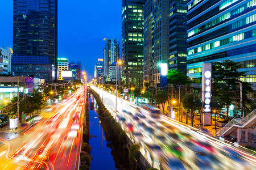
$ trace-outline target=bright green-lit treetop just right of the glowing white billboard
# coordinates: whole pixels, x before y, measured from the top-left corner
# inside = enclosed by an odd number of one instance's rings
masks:
[[[167,74],[168,84],[189,84],[191,80],[189,80],[187,75],[184,75],[183,72],[179,72],[177,69],[168,70]]]

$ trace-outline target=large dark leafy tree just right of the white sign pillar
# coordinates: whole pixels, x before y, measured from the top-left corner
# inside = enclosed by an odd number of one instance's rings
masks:
[[[229,105],[232,103],[240,105],[240,87],[238,77],[246,76],[246,71],[238,71],[241,65],[237,62],[225,60],[212,63],[212,94],[220,96],[222,103],[226,106],[226,116],[229,113]],[[251,84],[242,82],[243,105],[249,104],[250,99],[247,94],[253,92]]]

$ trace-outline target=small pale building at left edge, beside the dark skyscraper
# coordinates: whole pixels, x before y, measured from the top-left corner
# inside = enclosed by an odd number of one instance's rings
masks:
[[[2,54],[2,55],[1,55]],[[13,50],[8,46],[0,47],[0,75],[11,73],[11,55]]]

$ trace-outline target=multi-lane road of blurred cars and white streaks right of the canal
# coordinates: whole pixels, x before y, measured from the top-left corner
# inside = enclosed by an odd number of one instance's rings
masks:
[[[159,169],[256,169],[256,157],[183,126],[166,116],[154,116],[129,101],[93,87],[148,162]]]

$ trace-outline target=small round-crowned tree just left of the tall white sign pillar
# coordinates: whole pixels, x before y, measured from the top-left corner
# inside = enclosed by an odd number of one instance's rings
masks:
[[[191,126],[193,126],[195,111],[200,111],[202,107],[201,97],[195,94],[187,94],[181,99],[181,104],[187,111],[191,111]]]

